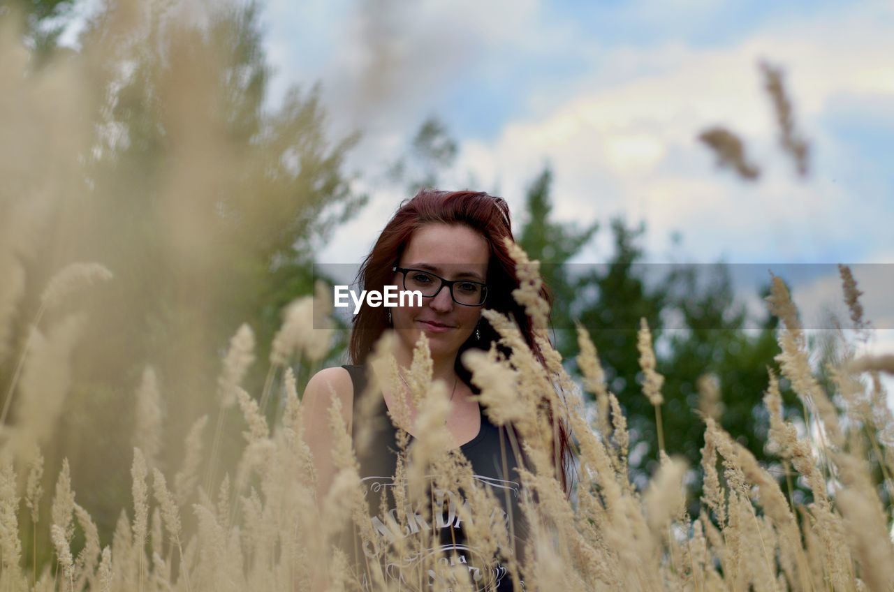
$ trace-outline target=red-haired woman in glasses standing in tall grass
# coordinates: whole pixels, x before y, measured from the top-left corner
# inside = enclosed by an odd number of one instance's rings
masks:
[[[477,400],[477,388],[471,384],[471,374],[461,363],[464,351],[477,348],[490,349],[499,336],[482,317],[485,307],[514,317],[527,345],[541,363],[543,356],[532,331],[530,318],[512,298],[511,292],[519,287],[515,263],[504,246],[504,238],[512,238],[510,211],[505,200],[484,192],[421,190],[413,199],[401,204],[391,221],[385,225],[375,247],[361,266],[358,279],[367,291],[384,292],[385,285],[396,285],[399,290],[418,291],[423,295],[421,306],[369,307],[362,306],[354,317],[350,337],[351,365],[326,368],[316,373],[308,382],[303,406],[306,418],[306,438],[315,459],[317,474],[317,499],[323,499],[333,480],[331,457],[332,436],[325,418],[336,396],[342,403],[345,425],[352,435],[356,426],[352,419],[356,398],[363,392],[367,381],[367,359],[375,342],[385,330],[393,329],[397,336],[395,358],[401,368],[401,378],[408,374],[413,349],[421,333],[426,334],[433,362],[433,379],[440,380],[451,393],[447,429],[454,447],[468,458],[475,478],[492,487],[502,503],[508,522],[518,527],[519,478],[515,468],[525,466],[512,454],[506,427],[496,427]],[[541,295],[550,300],[544,289]],[[380,381],[385,384],[385,381]],[[396,401],[402,397],[410,407],[409,426],[401,426],[410,436],[417,436],[413,419],[409,386],[402,392],[383,394],[388,410],[396,409]],[[393,533],[376,517],[381,498],[378,495],[392,485],[395,461],[393,450],[394,429],[390,426],[377,435],[368,453],[358,453],[360,476],[367,488],[370,520],[376,533],[383,539],[408,534],[429,533],[440,530],[443,550],[455,552],[459,561],[466,563],[472,580],[480,583],[480,589],[512,589],[512,580],[502,563],[493,572],[482,573],[477,564],[483,558],[476,556],[473,547],[464,545],[460,520],[455,504],[462,503],[458,492],[436,492],[440,499],[435,507],[443,514],[434,512],[431,524],[416,516],[409,520],[406,533]],[[510,427],[510,429],[512,429]],[[561,459],[561,478],[565,485],[565,469],[569,462],[569,439],[565,428],[557,426],[558,457]],[[518,433],[512,429],[512,436]],[[360,451],[367,452],[367,451]],[[507,453],[508,452],[508,453]],[[555,457],[556,454],[551,455]],[[507,459],[507,457],[509,457]],[[389,472],[390,471],[390,472]],[[387,495],[387,494],[385,494]],[[409,512],[411,514],[413,512]],[[520,528],[516,531],[515,548],[519,553]],[[364,549],[366,558],[353,554],[352,560],[363,563],[372,556]],[[362,571],[362,570],[361,570]],[[385,578],[401,578],[400,566],[384,566]],[[368,586],[367,574],[360,574],[361,585]]]

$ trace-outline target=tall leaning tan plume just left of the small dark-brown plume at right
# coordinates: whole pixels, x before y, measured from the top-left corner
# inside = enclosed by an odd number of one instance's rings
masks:
[[[772,275],[771,295],[765,300],[770,306],[770,312],[785,324],[779,334],[782,351],[773,359],[780,362],[782,374],[789,378],[798,397],[805,404],[813,404],[831,443],[841,446],[844,444],[844,436],[839,428],[838,411],[814,378],[806,351],[804,330],[797,320],[797,308],[791,301],[789,289],[778,275]]]

